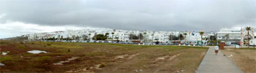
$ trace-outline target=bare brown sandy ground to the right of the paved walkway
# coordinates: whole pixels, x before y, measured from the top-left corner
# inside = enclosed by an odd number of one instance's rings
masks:
[[[256,73],[256,50],[225,48],[222,52],[244,73]]]

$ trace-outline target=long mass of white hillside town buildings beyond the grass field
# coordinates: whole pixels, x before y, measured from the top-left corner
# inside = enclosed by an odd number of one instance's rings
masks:
[[[107,40],[119,40],[122,42],[132,42],[133,40],[129,39],[130,35],[136,35],[139,37],[140,34],[143,37],[140,38],[140,42],[164,42],[169,43],[169,36],[173,35],[178,37],[179,34],[183,34],[180,31],[125,31],[125,30],[116,30],[110,28],[94,28],[94,29],[83,29],[83,30],[67,30],[67,31],[53,31],[45,33],[35,33],[29,35],[29,40],[41,40],[54,38],[56,40],[61,39],[73,39],[78,41],[83,40],[94,40],[93,37],[97,34],[107,34]],[[112,34],[113,33],[113,34]],[[203,36],[205,37],[205,36]],[[188,33],[187,42],[197,42],[200,40],[200,34],[198,33]],[[138,39],[137,39],[138,41]],[[181,40],[178,40],[181,41]]]

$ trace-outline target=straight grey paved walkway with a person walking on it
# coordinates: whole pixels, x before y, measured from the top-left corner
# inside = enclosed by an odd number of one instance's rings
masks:
[[[223,56],[221,50],[218,55],[214,53],[214,47],[209,47],[203,61],[201,62],[197,73],[244,73],[238,66]]]

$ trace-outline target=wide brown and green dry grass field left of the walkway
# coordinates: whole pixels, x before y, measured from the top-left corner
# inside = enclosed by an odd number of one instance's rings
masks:
[[[80,42],[0,41],[0,72],[195,72],[207,47],[116,45]],[[50,53],[31,54],[28,50]],[[70,51],[68,51],[70,50]],[[168,58],[157,61],[162,56]],[[53,65],[78,57],[64,65]],[[118,57],[118,58],[117,58]],[[104,67],[100,64],[104,64]],[[99,66],[98,66],[99,65]],[[97,67],[98,66],[98,67]]]

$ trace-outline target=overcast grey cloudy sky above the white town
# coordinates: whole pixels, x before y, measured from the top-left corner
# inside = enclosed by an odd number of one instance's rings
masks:
[[[0,0],[0,38],[86,26],[150,31],[256,27],[256,0]]]

